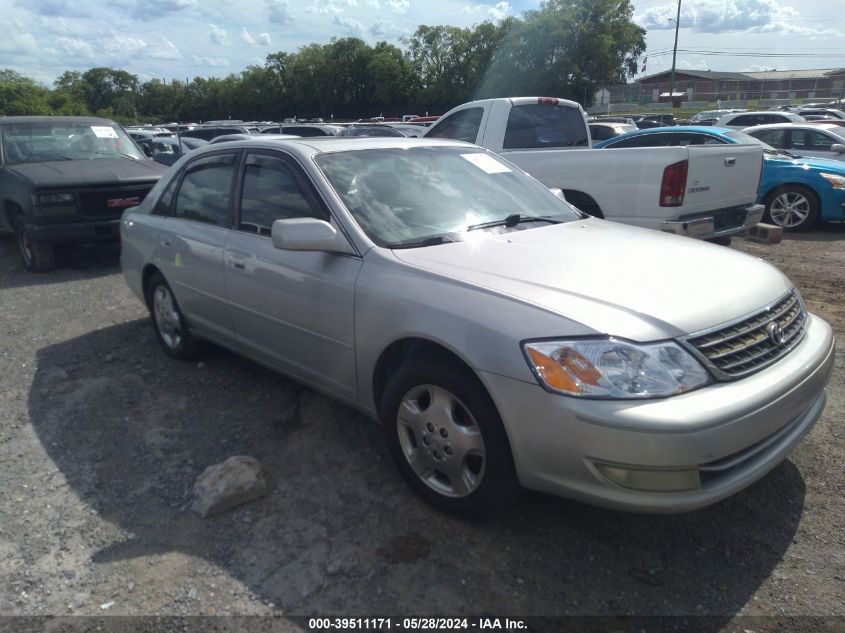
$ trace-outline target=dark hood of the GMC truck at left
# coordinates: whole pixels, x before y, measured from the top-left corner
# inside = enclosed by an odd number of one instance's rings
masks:
[[[11,165],[9,171],[32,182],[36,187],[88,187],[155,182],[167,167],[152,160],[97,158],[62,160]]]

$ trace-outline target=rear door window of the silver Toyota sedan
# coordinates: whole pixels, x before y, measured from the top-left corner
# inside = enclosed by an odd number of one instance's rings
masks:
[[[185,171],[173,215],[183,220],[229,226],[229,206],[237,154],[215,154]]]

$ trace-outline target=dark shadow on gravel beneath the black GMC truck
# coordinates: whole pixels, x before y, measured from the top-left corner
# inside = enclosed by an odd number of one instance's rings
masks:
[[[120,271],[120,244],[56,245],[56,268],[31,273],[23,267],[14,236],[0,235],[0,288],[23,288],[60,283],[72,279],[91,279]]]

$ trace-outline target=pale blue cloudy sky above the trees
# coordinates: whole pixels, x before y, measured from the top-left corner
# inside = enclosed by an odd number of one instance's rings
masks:
[[[672,63],[677,4],[632,0],[646,74]],[[679,68],[845,67],[841,0],[682,0]],[[51,86],[94,66],[152,78],[222,77],[332,37],[401,45],[420,24],[470,26],[539,0],[0,0],[0,68]],[[840,6],[835,6],[840,5]]]

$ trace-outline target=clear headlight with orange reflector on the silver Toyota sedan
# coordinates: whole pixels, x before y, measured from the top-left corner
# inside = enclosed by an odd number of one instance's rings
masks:
[[[710,382],[704,367],[671,341],[529,341],[523,351],[540,383],[568,396],[660,398]]]

